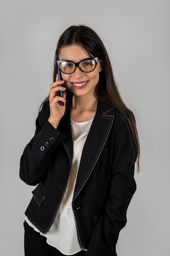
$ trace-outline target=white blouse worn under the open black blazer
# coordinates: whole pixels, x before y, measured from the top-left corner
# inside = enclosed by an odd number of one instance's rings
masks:
[[[50,230],[46,234],[40,233],[42,236],[47,238],[47,243],[49,245],[57,248],[62,254],[65,255],[72,255],[80,252],[81,250],[85,250],[83,247],[81,247],[78,238],[76,222],[72,210],[72,198],[83,146],[85,144],[85,140],[87,139],[92,121],[93,119],[83,123],[77,123],[71,120],[73,162],[68,179],[67,189]],[[39,230],[34,227],[27,217],[25,217],[25,220],[31,227],[34,228],[35,231],[39,232]]]

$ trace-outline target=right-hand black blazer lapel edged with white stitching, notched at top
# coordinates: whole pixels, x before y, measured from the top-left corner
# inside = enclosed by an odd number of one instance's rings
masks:
[[[88,180],[102,152],[113,124],[114,116],[111,115],[113,109],[113,105],[98,100],[96,115],[83,147],[73,200]]]

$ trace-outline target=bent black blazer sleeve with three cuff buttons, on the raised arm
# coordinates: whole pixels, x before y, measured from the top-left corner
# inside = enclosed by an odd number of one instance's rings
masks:
[[[66,137],[49,122],[49,102],[46,102],[36,119],[35,136],[24,149],[20,160],[20,178],[28,185],[37,185],[48,170],[50,157]]]

